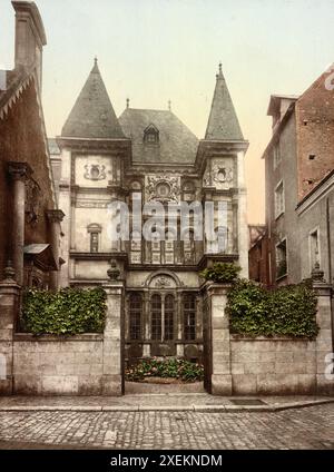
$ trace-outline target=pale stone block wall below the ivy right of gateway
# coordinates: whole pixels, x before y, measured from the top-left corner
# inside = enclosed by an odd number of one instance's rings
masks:
[[[310,394],[316,385],[316,343],[274,337],[230,340],[234,394]]]

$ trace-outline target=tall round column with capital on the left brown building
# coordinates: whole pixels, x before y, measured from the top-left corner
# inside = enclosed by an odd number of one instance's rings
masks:
[[[16,279],[23,285],[24,265],[24,216],[26,216],[26,180],[32,174],[26,163],[9,163],[8,171],[13,180],[13,219],[12,219],[12,258]]]

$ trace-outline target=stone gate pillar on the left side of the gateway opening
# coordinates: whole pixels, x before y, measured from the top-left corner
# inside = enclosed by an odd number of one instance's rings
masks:
[[[107,315],[104,333],[104,395],[124,394],[124,282],[104,285]]]

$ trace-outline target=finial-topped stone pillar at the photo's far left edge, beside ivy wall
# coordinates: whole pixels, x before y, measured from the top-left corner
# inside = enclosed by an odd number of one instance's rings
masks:
[[[0,394],[13,393],[13,333],[16,331],[20,286],[14,281],[14,271],[4,269],[4,279],[0,282]]]

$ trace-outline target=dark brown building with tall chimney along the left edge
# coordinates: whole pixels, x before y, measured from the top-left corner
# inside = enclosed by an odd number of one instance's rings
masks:
[[[0,274],[57,288],[59,222],[41,107],[46,33],[33,2],[13,1],[14,69],[0,81]]]

